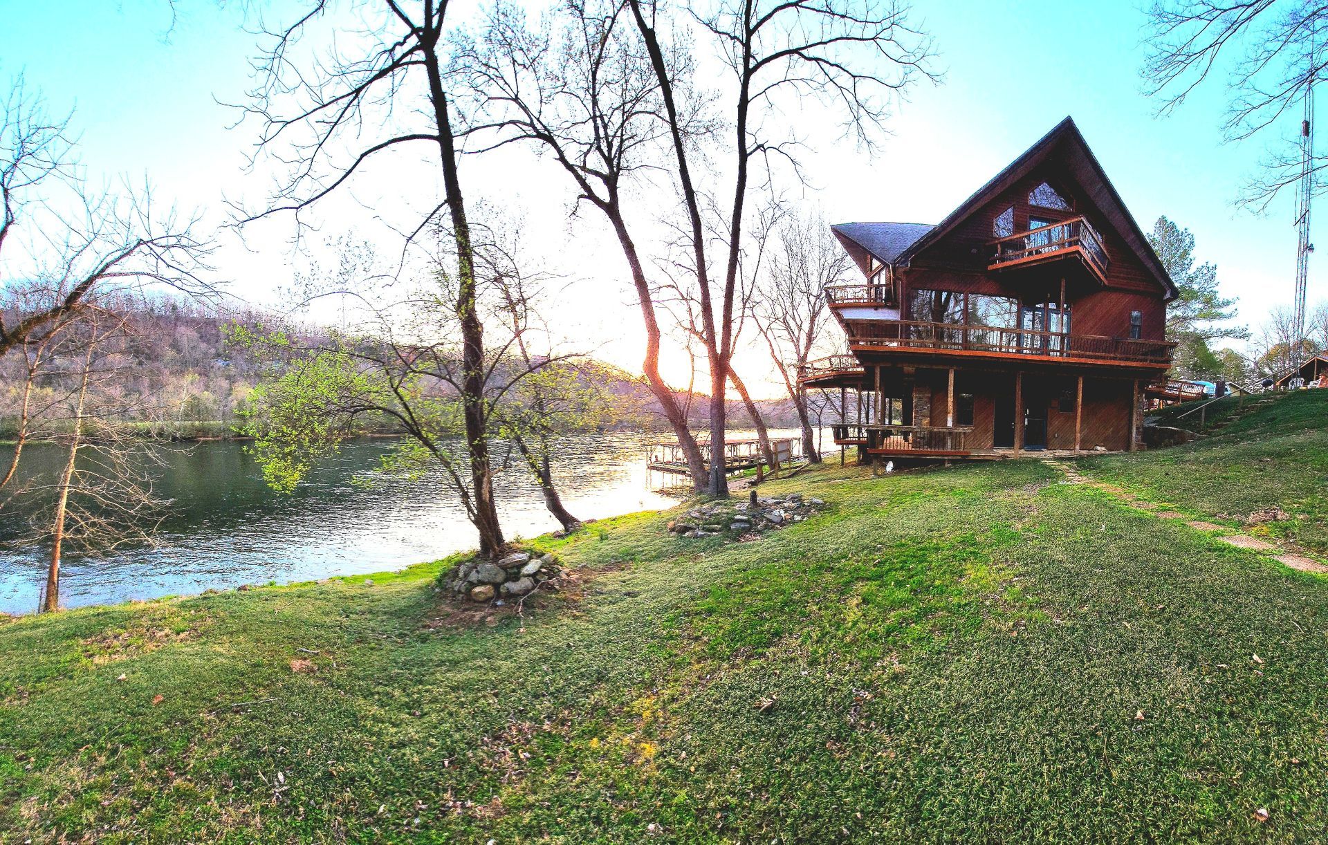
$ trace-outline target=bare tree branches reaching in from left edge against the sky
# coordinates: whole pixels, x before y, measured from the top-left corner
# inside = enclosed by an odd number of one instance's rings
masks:
[[[49,117],[20,78],[0,102],[0,357],[129,290],[212,292],[197,227],[154,207],[146,186],[90,191],[68,120]]]

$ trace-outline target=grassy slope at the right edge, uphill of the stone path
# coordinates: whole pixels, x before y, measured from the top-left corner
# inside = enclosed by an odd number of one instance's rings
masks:
[[[1258,531],[1328,555],[1328,391],[1280,396],[1185,446],[1093,458],[1084,466],[1149,498],[1231,525],[1252,512],[1282,508],[1289,518]]]

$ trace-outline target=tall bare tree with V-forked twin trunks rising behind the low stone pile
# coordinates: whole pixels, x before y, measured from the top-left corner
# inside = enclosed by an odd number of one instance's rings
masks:
[[[699,0],[687,7],[687,19],[710,37],[712,48],[730,76],[724,89],[732,104],[726,124],[732,143],[732,179],[725,185],[720,243],[722,267],[712,279],[710,239],[704,223],[705,194],[699,189],[700,155],[689,143],[689,125],[681,108],[683,89],[667,61],[671,33],[677,25],[668,7],[652,0],[627,0],[632,20],[651,56],[673,154],[676,179],[691,247],[695,254],[701,326],[710,369],[710,440],[722,441],[725,381],[734,351],[738,266],[744,248],[744,210],[756,179],[773,177],[772,161],[798,174],[795,138],[776,129],[781,105],[821,100],[843,118],[846,129],[869,142],[888,113],[894,96],[919,74],[927,74],[930,41],[907,20],[896,3],[850,0],[785,3],[784,0]],[[762,174],[764,171],[764,174]],[[718,300],[718,302],[716,302]],[[722,456],[712,454],[709,490],[728,496]]]

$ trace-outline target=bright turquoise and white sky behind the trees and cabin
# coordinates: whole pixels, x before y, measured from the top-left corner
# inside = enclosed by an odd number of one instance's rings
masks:
[[[52,110],[74,109],[81,158],[94,179],[146,174],[161,198],[222,219],[223,194],[256,197],[267,186],[242,170],[252,128],[231,129],[234,112],[216,102],[242,100],[255,41],[235,4],[179,5],[171,28],[165,0],[0,0],[0,78],[21,72]],[[270,8],[279,16],[290,4]],[[1291,195],[1264,217],[1232,205],[1263,146],[1222,143],[1220,80],[1177,114],[1155,116],[1157,104],[1141,92],[1143,15],[1135,5],[918,3],[915,19],[935,37],[943,82],[910,92],[872,158],[821,137],[813,116],[805,202],[834,221],[936,222],[1070,114],[1141,226],[1166,214],[1194,231],[1199,256],[1218,264],[1224,292],[1240,299],[1242,322],[1258,326],[1271,307],[1291,302]],[[798,126],[807,116],[788,117]],[[1283,132],[1293,133],[1296,120]],[[575,242],[575,272],[584,276],[575,298],[594,304],[579,306],[571,324],[604,357],[639,365],[640,340],[622,331],[635,315],[624,318],[631,300],[612,244],[590,215],[568,226],[559,174],[511,155],[471,165],[471,179],[518,198],[539,248],[567,252],[566,242]],[[345,215],[328,219],[328,231],[355,226]],[[292,267],[276,236],[248,250],[231,243],[218,263],[238,295],[260,303],[274,302]],[[1311,303],[1325,298],[1320,278],[1311,263]],[[603,295],[606,286],[612,296]],[[679,359],[672,365],[680,372]]]

